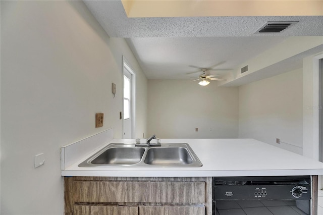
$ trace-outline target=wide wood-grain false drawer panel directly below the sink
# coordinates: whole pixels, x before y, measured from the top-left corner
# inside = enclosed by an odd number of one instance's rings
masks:
[[[74,202],[204,203],[205,182],[74,181]]]

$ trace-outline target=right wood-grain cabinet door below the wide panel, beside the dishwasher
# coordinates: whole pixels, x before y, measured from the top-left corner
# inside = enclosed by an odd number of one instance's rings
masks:
[[[139,206],[139,215],[204,215],[203,205]]]

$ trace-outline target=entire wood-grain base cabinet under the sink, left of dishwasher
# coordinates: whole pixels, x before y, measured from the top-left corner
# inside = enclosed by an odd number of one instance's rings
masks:
[[[65,214],[211,214],[211,177],[65,177]]]

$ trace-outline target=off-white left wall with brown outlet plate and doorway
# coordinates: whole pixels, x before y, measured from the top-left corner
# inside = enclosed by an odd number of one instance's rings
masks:
[[[122,56],[141,86],[142,134],[147,79],[124,39],[109,38],[81,1],[1,1],[1,214],[63,214],[60,146],[111,127],[121,138]]]

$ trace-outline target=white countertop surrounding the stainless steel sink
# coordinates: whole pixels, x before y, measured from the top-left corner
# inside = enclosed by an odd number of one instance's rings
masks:
[[[109,143],[135,143],[114,139]],[[102,145],[99,149],[109,143]],[[62,170],[62,176],[212,177],[323,175],[323,163],[254,139],[161,139],[161,143],[188,143],[201,163],[198,168],[78,167],[99,149]]]

